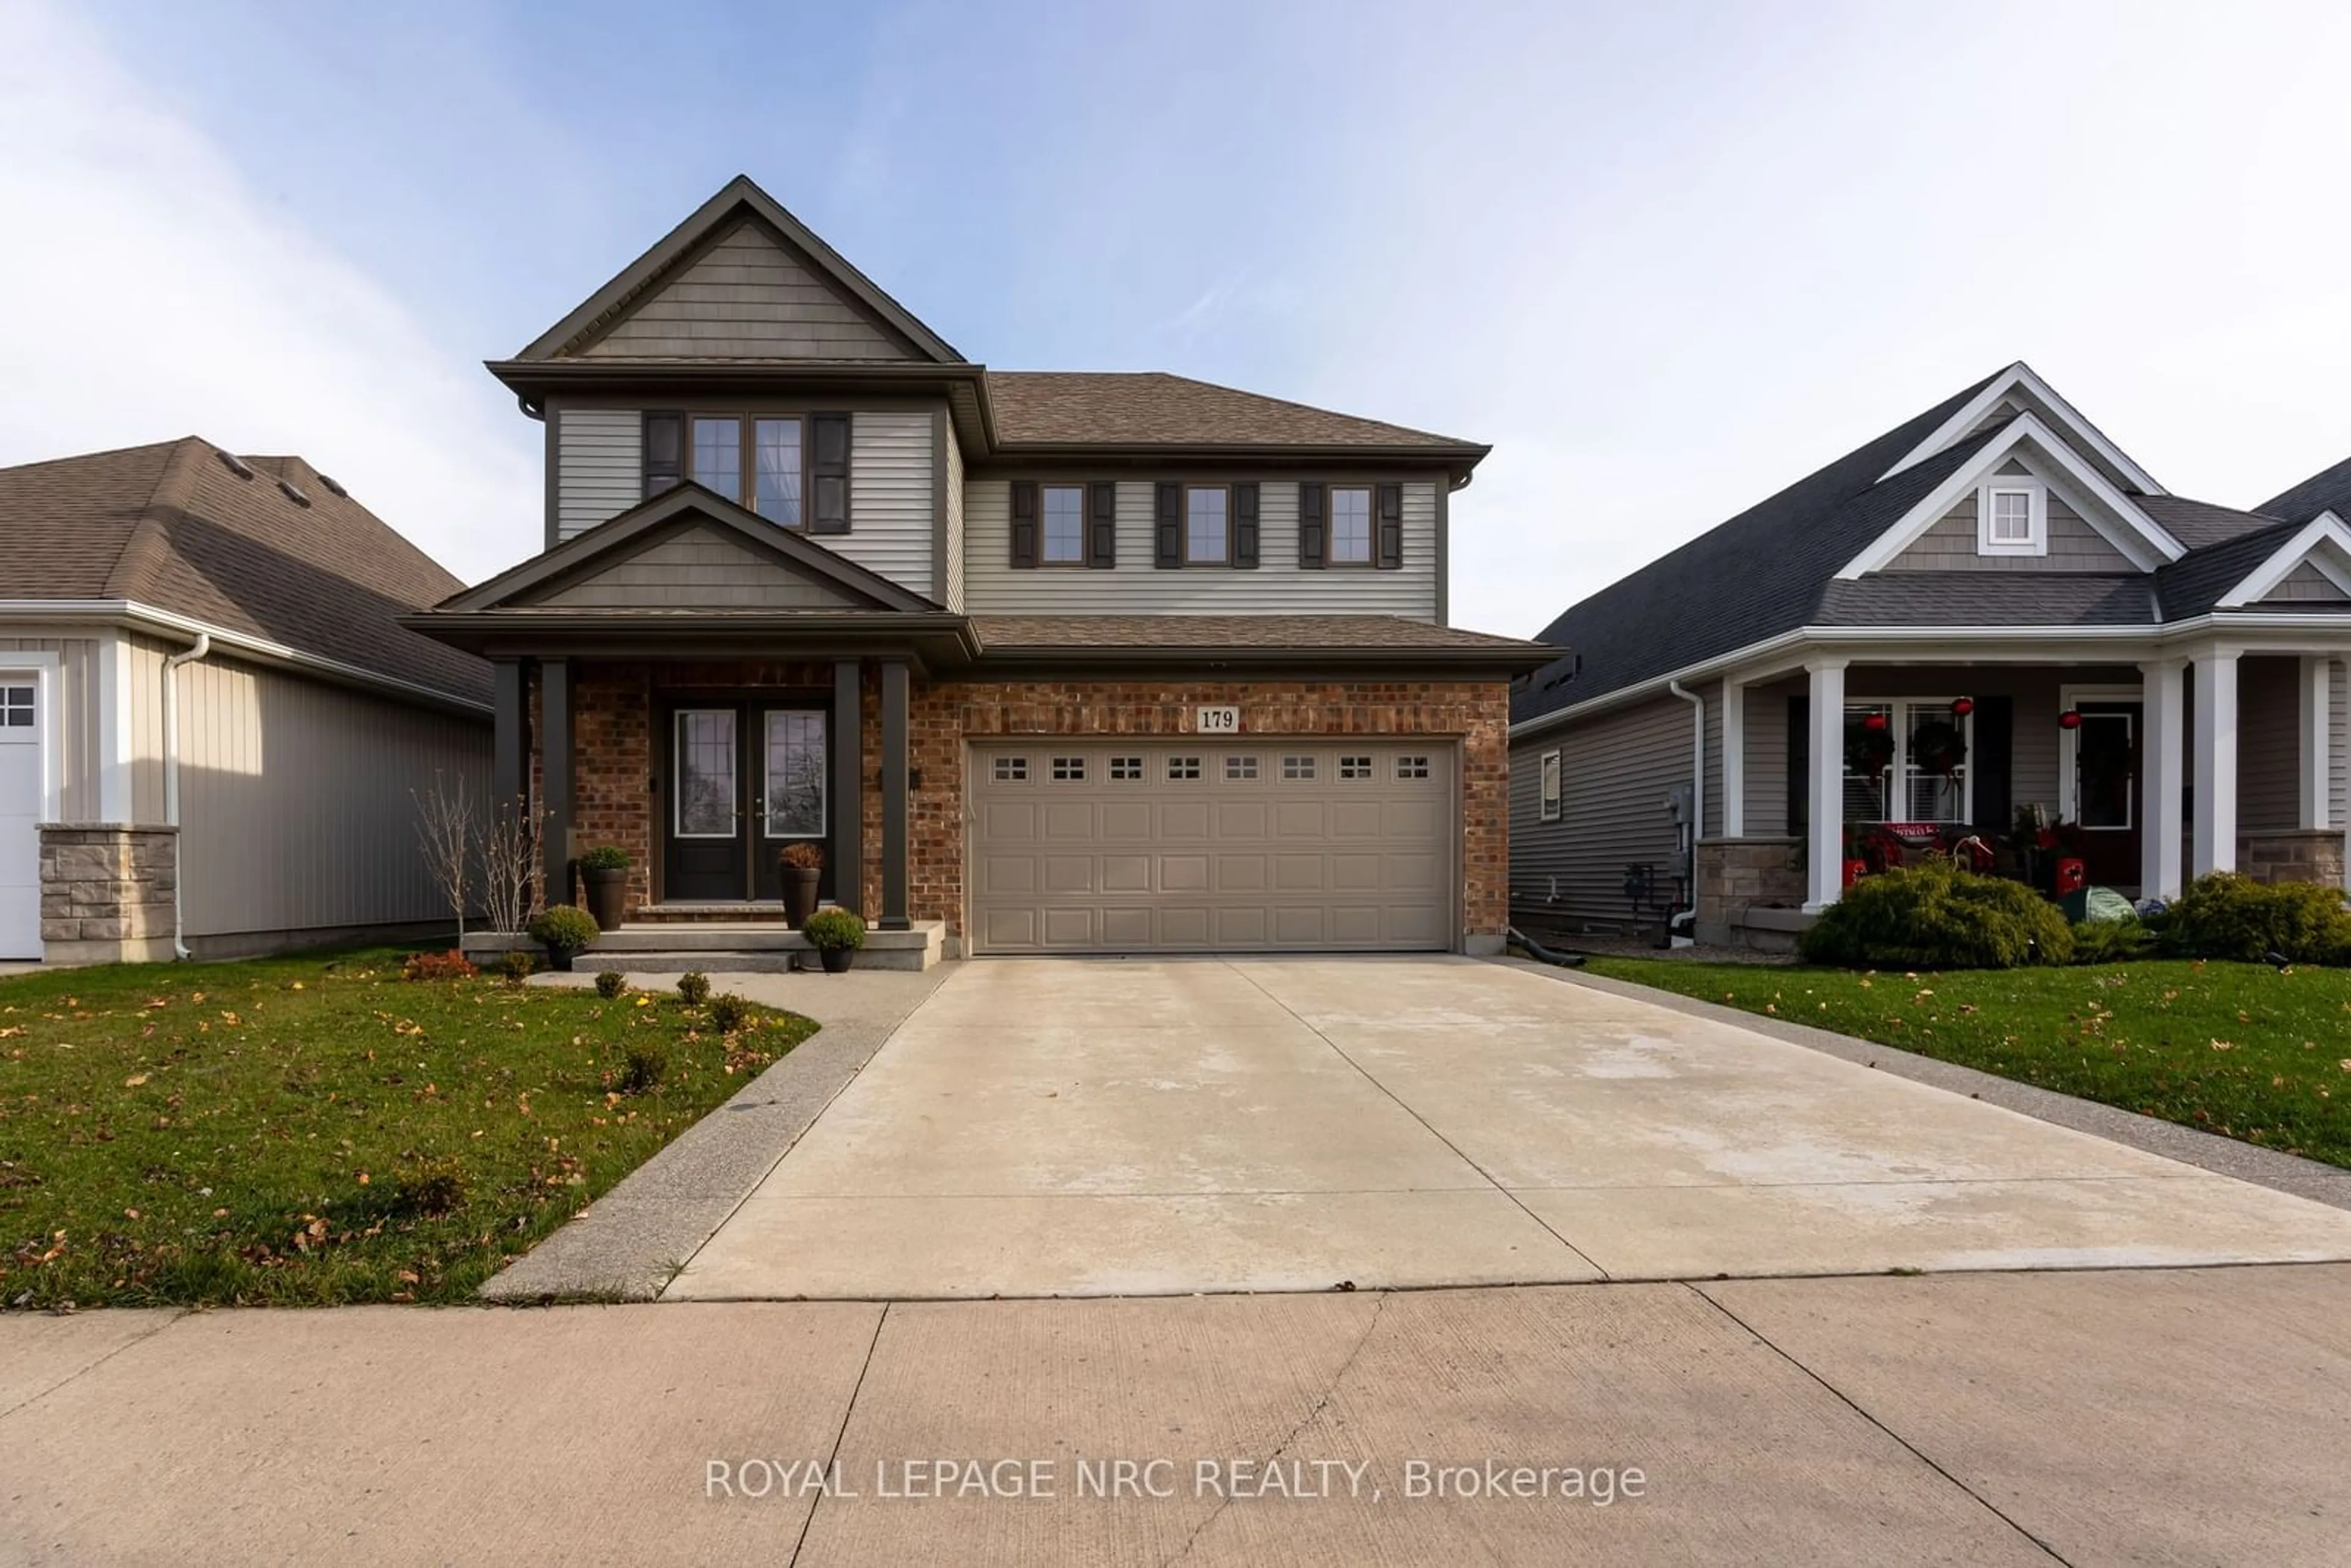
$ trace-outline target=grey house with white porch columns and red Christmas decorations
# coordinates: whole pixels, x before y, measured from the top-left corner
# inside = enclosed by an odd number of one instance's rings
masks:
[[[2012,364],[1542,632],[1573,654],[1512,705],[1512,907],[1784,945],[1857,837],[2020,809],[2128,893],[2339,884],[2344,517],[2351,463],[2189,501]]]

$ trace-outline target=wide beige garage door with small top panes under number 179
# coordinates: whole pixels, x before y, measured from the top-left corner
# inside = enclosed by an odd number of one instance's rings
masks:
[[[1446,950],[1453,776],[1448,741],[973,743],[973,950]]]

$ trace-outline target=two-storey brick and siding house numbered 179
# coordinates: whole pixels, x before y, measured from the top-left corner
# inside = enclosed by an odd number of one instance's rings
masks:
[[[496,795],[555,898],[628,851],[639,950],[757,945],[795,842],[922,961],[1502,945],[1549,654],[1446,625],[1486,447],[992,371],[748,179],[489,369],[545,550],[407,625],[491,661]]]

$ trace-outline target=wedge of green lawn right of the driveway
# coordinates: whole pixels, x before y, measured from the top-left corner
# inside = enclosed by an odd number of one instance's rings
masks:
[[[2149,959],[1907,976],[1594,957],[1589,971],[2351,1166],[2344,969]]]

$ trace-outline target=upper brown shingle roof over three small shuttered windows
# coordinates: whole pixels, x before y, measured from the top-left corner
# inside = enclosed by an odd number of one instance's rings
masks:
[[[1476,447],[1166,371],[992,369],[987,397],[1006,447]]]

